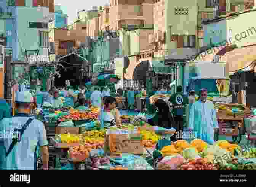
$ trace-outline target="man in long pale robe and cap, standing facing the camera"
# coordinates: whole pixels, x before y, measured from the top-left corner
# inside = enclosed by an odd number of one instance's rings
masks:
[[[213,144],[214,130],[219,128],[219,125],[213,102],[206,99],[207,90],[200,90],[200,99],[195,102],[190,109],[189,129],[193,130],[196,138]]]

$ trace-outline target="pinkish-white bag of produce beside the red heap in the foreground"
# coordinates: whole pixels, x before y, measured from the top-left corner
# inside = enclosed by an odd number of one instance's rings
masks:
[[[171,155],[164,157],[159,163],[169,166],[170,170],[175,170],[179,165],[184,163],[186,160],[180,154]]]

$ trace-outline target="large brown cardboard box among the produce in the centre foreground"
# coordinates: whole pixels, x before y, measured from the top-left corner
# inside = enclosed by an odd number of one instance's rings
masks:
[[[110,155],[118,155],[122,153],[144,154],[144,146],[142,144],[141,134],[109,134],[106,137],[105,150]]]

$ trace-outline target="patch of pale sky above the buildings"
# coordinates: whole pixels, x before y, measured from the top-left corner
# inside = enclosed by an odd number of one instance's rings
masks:
[[[54,0],[55,5],[61,5],[64,14],[69,16],[68,24],[77,19],[77,12],[85,9],[90,10],[93,6],[104,6],[109,0]]]

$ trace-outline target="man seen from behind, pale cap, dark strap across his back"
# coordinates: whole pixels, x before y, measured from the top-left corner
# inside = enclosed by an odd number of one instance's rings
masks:
[[[26,90],[16,96],[18,114],[0,121],[0,170],[35,170],[37,146],[43,169],[48,169],[49,152],[45,126],[30,116],[32,94]]]

